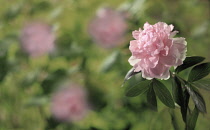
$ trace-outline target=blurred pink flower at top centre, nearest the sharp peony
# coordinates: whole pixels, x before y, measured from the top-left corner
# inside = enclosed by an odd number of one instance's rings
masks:
[[[100,9],[89,25],[93,40],[105,48],[121,44],[127,30],[124,14],[110,8]]]

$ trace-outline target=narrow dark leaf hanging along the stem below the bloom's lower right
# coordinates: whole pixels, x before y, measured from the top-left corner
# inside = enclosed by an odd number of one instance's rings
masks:
[[[183,91],[182,91],[182,85],[179,79],[175,76],[173,78],[172,82],[172,95],[174,98],[174,101],[180,106],[184,106],[184,96],[183,96]]]

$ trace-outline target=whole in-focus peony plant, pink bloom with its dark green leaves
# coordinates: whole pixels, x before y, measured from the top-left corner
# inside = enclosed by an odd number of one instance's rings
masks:
[[[174,38],[178,31],[174,26],[164,22],[150,25],[148,22],[133,31],[135,40],[130,41],[129,58],[133,68],[125,76],[125,81],[132,76],[139,75],[138,83],[127,87],[126,96],[135,97],[147,94],[147,102],[151,109],[157,111],[157,99],[174,109],[180,108],[186,130],[193,130],[196,126],[199,112],[206,113],[206,103],[198,88],[209,90],[209,79],[203,79],[210,73],[210,62],[201,63],[205,58],[200,56],[186,57],[187,42],[185,38]],[[200,63],[200,64],[199,64]],[[174,67],[174,69],[171,69]],[[180,76],[180,72],[193,67],[188,79]],[[172,84],[172,95],[160,80],[169,80]],[[189,105],[192,98],[194,108]],[[175,115],[171,114],[172,119]],[[175,127],[177,124],[172,120]]]

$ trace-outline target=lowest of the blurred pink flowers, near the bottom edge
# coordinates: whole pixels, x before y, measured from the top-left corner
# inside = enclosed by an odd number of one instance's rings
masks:
[[[58,120],[81,120],[87,114],[88,109],[86,91],[76,85],[63,88],[52,97],[51,111]]]

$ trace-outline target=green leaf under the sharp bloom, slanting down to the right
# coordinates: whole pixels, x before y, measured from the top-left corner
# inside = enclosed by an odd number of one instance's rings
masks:
[[[158,98],[170,108],[175,108],[174,101],[168,89],[160,81],[153,79],[153,88]]]

